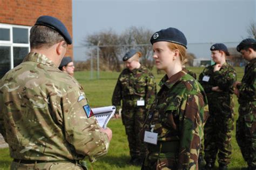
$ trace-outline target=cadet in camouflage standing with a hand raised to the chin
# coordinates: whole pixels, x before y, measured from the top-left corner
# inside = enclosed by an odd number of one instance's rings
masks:
[[[214,65],[199,76],[209,105],[209,118],[205,124],[205,169],[212,169],[218,153],[219,169],[227,169],[231,160],[231,132],[234,128],[233,83],[237,80],[233,67],[226,62],[229,55],[222,43],[211,46]]]

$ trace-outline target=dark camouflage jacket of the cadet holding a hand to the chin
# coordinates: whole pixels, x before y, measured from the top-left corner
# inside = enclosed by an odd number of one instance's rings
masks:
[[[198,78],[199,83],[207,93],[207,97],[215,98],[216,95],[227,96],[233,94],[233,83],[237,80],[237,73],[228,63],[224,63],[219,71],[213,72],[214,65],[206,67]],[[210,79],[206,81],[204,77],[210,77]],[[221,92],[212,91],[212,87],[215,86],[219,86]]]

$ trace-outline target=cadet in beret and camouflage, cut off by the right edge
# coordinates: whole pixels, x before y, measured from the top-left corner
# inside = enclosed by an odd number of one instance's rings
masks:
[[[235,137],[241,149],[242,157],[249,170],[256,169],[256,40],[244,39],[237,51],[249,63],[245,66],[242,81],[234,83],[235,95],[240,104]]]

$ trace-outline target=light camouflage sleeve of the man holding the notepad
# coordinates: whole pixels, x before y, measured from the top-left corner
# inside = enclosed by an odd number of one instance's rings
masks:
[[[77,154],[88,156],[90,161],[105,155],[109,148],[106,133],[99,131],[95,117],[86,114],[84,92],[72,88],[62,97],[63,126],[66,140],[73,145]]]

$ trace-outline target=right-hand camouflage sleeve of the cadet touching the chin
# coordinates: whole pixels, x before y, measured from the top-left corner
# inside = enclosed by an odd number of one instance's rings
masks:
[[[234,81],[237,80],[237,73],[234,70],[228,70],[223,73],[215,71],[213,73],[215,83],[222,91],[229,91],[233,87]]]

